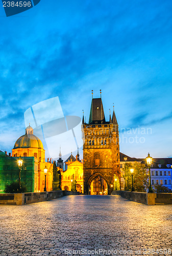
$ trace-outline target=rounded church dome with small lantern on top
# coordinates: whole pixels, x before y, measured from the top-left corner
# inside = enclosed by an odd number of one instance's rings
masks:
[[[16,140],[13,149],[28,147],[43,148],[41,140],[33,134],[33,128],[30,126],[30,124],[26,128],[26,134]]]

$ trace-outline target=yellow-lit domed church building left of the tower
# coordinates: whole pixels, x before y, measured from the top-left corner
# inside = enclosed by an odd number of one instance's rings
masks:
[[[53,189],[53,164],[45,162],[45,150],[41,140],[33,134],[33,128],[26,128],[26,134],[18,138],[12,150],[12,157],[34,157],[34,192],[42,192],[45,187],[44,169],[46,174],[46,191]]]

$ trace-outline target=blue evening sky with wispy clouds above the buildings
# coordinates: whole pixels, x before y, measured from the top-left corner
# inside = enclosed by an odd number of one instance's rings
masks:
[[[101,89],[106,119],[114,102],[123,129],[120,152],[172,157],[171,13],[158,0],[41,0],[11,17],[0,5],[0,150],[24,134],[32,105],[59,96],[64,115],[84,109],[88,121]]]

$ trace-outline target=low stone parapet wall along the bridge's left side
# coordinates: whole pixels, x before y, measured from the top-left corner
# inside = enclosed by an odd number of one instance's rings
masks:
[[[8,205],[23,205],[38,203],[42,201],[48,201],[64,196],[80,195],[79,192],[75,191],[50,191],[50,192],[39,192],[39,193],[22,193],[22,194],[0,194],[0,204]]]

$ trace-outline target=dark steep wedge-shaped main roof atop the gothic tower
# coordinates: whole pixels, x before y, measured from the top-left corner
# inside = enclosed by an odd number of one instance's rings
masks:
[[[91,101],[89,124],[105,123],[102,98],[95,98]]]

